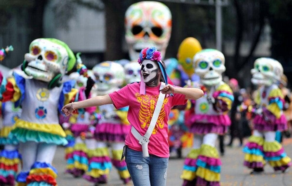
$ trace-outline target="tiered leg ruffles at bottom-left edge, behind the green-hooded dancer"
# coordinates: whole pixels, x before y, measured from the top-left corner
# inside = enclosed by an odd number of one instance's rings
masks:
[[[14,185],[21,155],[18,150],[0,152],[0,185]]]

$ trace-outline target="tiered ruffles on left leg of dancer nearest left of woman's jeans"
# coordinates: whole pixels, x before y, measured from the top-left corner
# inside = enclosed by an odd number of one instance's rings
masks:
[[[107,148],[88,150],[89,167],[83,178],[93,183],[107,183],[109,171],[112,169]]]

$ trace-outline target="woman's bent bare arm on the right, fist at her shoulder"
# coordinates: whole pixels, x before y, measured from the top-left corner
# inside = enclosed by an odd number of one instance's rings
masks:
[[[198,88],[182,88],[182,87],[174,87],[173,85],[167,84],[162,90],[164,94],[184,94],[185,99],[199,99],[204,95],[203,90]]]

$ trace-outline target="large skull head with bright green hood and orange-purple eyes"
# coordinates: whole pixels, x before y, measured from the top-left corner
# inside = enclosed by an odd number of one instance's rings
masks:
[[[39,38],[30,43],[22,70],[50,86],[70,71],[75,62],[76,58],[66,43],[54,38]]]

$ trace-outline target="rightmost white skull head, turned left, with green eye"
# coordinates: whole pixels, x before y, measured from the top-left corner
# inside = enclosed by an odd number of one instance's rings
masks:
[[[251,82],[255,85],[271,86],[278,83],[283,75],[282,65],[275,59],[261,57],[256,59],[251,69]]]

